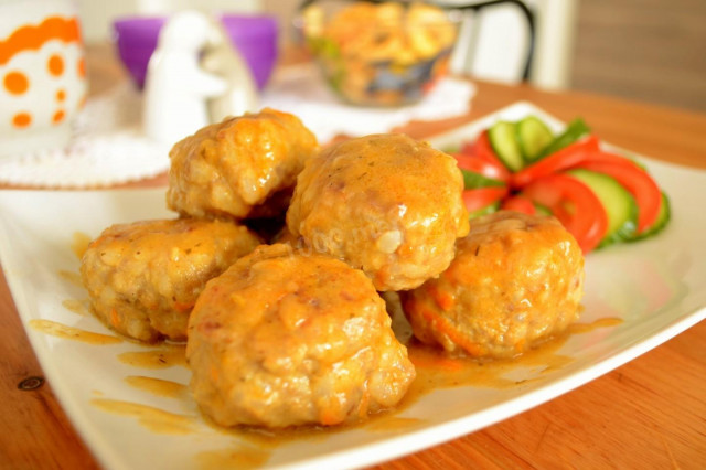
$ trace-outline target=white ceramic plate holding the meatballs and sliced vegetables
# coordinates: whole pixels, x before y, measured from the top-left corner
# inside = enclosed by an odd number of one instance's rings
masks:
[[[473,138],[495,119],[528,114],[556,129],[561,122],[520,103],[478,122],[432,139],[440,148]],[[700,204],[706,172],[641,159],[666,190],[674,207],[670,226],[652,239],[592,253],[586,264],[581,322],[619,317],[622,323],[573,335],[558,351],[573,361],[542,371],[509,389],[462,386],[438,389],[397,415],[410,426],[363,426],[267,450],[266,467],[352,468],[393,459],[472,432],[580,386],[661,344],[706,316],[706,223]],[[186,384],[182,366],[136,370],[120,353],[143,351],[122,342],[92,345],[56,338],[30,325],[45,319],[108,333],[90,316],[63,306],[86,293],[61,271],[77,271],[71,249],[76,232],[92,237],[119,222],[171,217],[164,190],[99,192],[0,191],[0,260],[34,351],[69,419],[107,469],[217,467],[226,449],[252,449],[237,436],[206,426],[189,400],[160,397],[125,382],[145,375]],[[135,416],[107,413],[94,399],[142,404],[191,419],[192,431],[160,434]],[[247,453],[247,452],[246,452]],[[211,458],[208,458],[211,456]]]

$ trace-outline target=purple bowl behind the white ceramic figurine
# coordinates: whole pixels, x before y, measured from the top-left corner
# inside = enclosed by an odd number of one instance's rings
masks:
[[[218,19],[250,67],[258,89],[263,89],[277,62],[277,20],[269,15],[236,14],[221,14]],[[120,61],[140,88],[145,86],[147,65],[165,22],[167,18],[131,17],[113,23]]]

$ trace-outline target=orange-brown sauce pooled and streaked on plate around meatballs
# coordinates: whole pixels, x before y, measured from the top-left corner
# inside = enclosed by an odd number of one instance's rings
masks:
[[[83,234],[74,235],[72,249],[81,257],[90,239]],[[67,281],[82,285],[77,273],[61,271]],[[200,423],[205,423],[218,432],[234,437],[232,446],[208,450],[195,456],[201,469],[225,467],[256,468],[267,462],[271,450],[291,441],[323,439],[332,432],[344,432],[360,428],[371,432],[405,432],[425,426],[424,419],[398,416],[422,396],[439,388],[474,386],[506,389],[521,384],[541,380],[542,374],[556,371],[574,361],[573,357],[559,354],[558,351],[573,334],[591,332],[599,328],[616,327],[622,322],[618,318],[603,318],[591,323],[574,323],[565,334],[550,339],[542,345],[511,360],[478,361],[469,357],[454,357],[440,349],[426,346],[417,342],[406,319],[399,318],[392,299],[387,299],[393,314],[393,325],[398,339],[408,348],[408,354],[417,370],[417,378],[410,386],[403,402],[389,412],[379,413],[360,424],[338,426],[334,428],[309,427],[285,430],[261,430],[253,428],[223,428],[197,412],[197,405],[189,393],[188,385],[162,378],[129,375],[125,382],[137,389],[162,398],[176,399],[189,410],[189,414],[176,414],[138,403],[96,397],[94,406],[104,412],[132,417],[141,426],[157,434],[185,435],[197,430]],[[86,316],[90,313],[87,300],[67,299],[62,302],[67,310]],[[32,320],[30,325],[46,334],[82,341],[89,344],[114,344],[122,342],[118,337],[94,333],[64,325],[50,320]],[[126,365],[142,370],[162,370],[172,366],[188,367],[185,344],[163,343],[146,346],[140,351],[129,351],[117,355],[117,360]],[[517,372],[524,371],[517,377]],[[528,372],[527,372],[528,371]],[[522,376],[524,374],[524,376]]]

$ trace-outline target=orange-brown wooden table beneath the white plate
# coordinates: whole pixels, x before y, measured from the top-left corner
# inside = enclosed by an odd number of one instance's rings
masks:
[[[109,51],[88,56],[94,94],[125,79]],[[605,140],[665,161],[706,168],[706,115],[581,93],[478,83],[471,113],[411,122],[425,137],[530,100],[563,120],[582,116]],[[164,184],[164,175],[132,185]],[[703,202],[703,194],[696,195]],[[703,260],[702,260],[703,261]],[[0,468],[93,469],[51,391],[18,388],[41,376],[4,277],[0,278]],[[545,405],[378,469],[706,467],[706,322]]]

